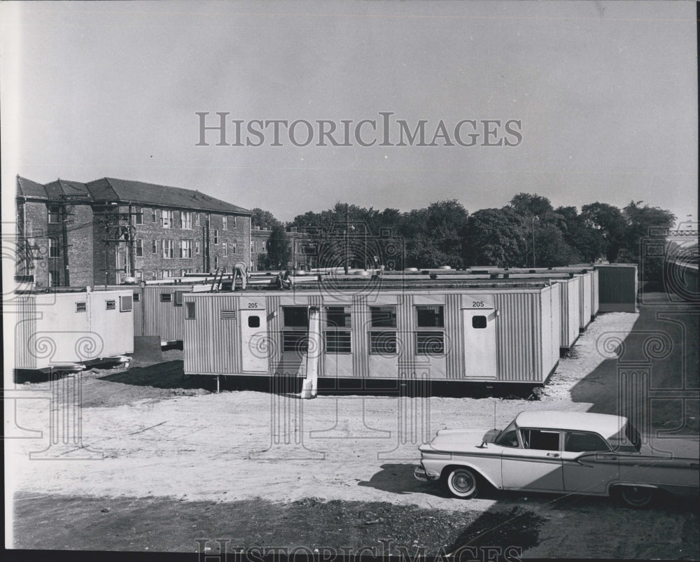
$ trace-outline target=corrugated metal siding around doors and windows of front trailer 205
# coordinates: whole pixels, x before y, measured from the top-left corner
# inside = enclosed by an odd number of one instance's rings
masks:
[[[493,292],[494,305],[500,316],[496,320],[497,378],[501,381],[541,382],[556,363],[559,353],[558,313],[546,314],[544,320],[542,302],[547,297],[547,307],[559,309],[559,291],[545,288],[543,292],[529,290],[519,293]],[[484,294],[484,290],[479,290]],[[323,306],[321,295],[267,296],[267,326],[269,330],[269,375],[286,372],[283,365],[282,323],[283,305]],[[375,360],[369,357],[370,312],[363,295],[353,297],[353,351],[352,376],[401,378],[429,376],[432,379],[463,379],[465,351],[463,318],[461,316],[462,293],[431,293],[419,295],[419,300],[433,299],[445,305],[446,356],[416,356],[415,350],[415,299],[411,294],[396,295],[397,301],[397,355],[395,360]],[[186,321],[184,330],[184,359],[186,373],[238,374],[240,373],[240,345],[237,320],[221,320],[221,310],[237,307],[235,297],[228,295],[191,294],[183,302],[195,302],[196,319]],[[230,302],[229,302],[230,300]],[[421,301],[422,302],[422,301]],[[329,303],[337,305],[337,302]],[[554,316],[554,318],[552,318]],[[222,323],[228,323],[226,326]],[[228,331],[227,331],[228,330]],[[556,353],[555,353],[556,352]],[[233,360],[232,358],[235,358]],[[377,359],[378,356],[372,356]],[[298,361],[297,361],[298,363]],[[323,363],[322,363],[323,364]],[[370,364],[379,368],[370,372]],[[298,365],[287,365],[290,370]],[[546,370],[546,371],[545,371]],[[344,371],[345,372],[345,371]],[[332,374],[325,373],[326,376]],[[484,374],[485,380],[493,380],[493,373]]]

